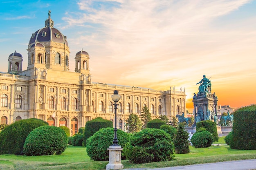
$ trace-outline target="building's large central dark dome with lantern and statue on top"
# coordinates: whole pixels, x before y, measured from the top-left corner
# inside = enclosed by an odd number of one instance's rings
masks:
[[[49,17],[45,20],[45,27],[34,32],[29,40],[29,44],[36,42],[58,42],[67,44],[67,37],[61,31],[54,28],[54,21],[51,19],[51,12],[48,13]]]

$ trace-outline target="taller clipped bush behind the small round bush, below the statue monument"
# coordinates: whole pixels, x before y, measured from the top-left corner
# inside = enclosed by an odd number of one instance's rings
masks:
[[[200,121],[196,124],[196,130],[198,130],[200,127],[206,128],[206,130],[211,133],[211,135],[213,136],[213,142],[219,141],[217,126],[213,121],[210,121],[210,120]]]

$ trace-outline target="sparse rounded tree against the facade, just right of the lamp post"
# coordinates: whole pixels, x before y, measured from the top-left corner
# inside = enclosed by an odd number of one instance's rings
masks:
[[[141,130],[142,122],[138,115],[130,114],[126,120],[129,127],[129,132],[139,132]]]

